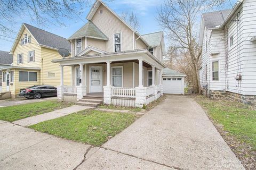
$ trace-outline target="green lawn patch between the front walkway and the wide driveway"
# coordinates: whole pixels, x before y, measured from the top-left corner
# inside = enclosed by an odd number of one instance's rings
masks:
[[[109,138],[136,120],[134,114],[111,113],[87,109],[78,113],[38,123],[29,128],[57,137],[101,146]]]

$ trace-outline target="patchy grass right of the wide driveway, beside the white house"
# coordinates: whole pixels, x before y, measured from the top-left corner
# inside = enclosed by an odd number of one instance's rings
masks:
[[[202,96],[196,100],[215,123],[223,125],[223,130],[256,150],[256,111],[251,106]]]

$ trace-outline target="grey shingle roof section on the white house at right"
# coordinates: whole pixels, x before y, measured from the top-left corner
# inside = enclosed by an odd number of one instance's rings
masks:
[[[206,29],[217,28],[218,26],[220,26],[224,22],[223,18],[226,20],[230,12],[231,9],[203,13],[203,19]]]

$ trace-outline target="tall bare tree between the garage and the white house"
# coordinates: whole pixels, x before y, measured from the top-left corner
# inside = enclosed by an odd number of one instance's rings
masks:
[[[195,80],[195,92],[201,93],[199,64],[202,49],[197,44],[198,19],[200,14],[221,4],[224,0],[165,0],[158,11],[158,22],[166,29],[172,44],[179,47],[191,65]]]

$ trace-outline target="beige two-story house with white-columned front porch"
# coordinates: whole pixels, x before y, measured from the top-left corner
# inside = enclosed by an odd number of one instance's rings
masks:
[[[163,94],[163,32],[140,35],[101,1],[94,3],[86,19],[68,38],[71,56],[53,60],[61,65],[58,98],[83,105],[103,101],[132,107],[159,98]],[[72,68],[72,86],[65,86],[63,67]]]

